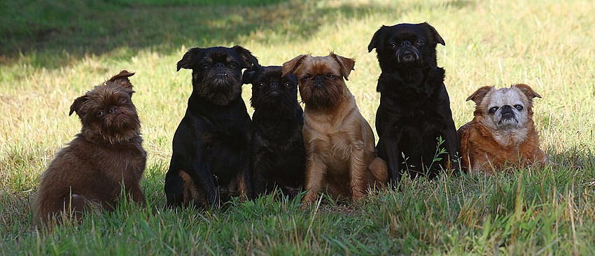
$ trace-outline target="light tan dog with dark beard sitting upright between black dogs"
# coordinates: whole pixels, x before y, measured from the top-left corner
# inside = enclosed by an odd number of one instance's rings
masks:
[[[297,77],[304,101],[307,152],[304,207],[324,188],[332,197],[363,199],[368,187],[387,182],[386,163],[376,155],[372,128],[345,85],[355,61],[330,55],[299,55],[283,63],[283,76]]]

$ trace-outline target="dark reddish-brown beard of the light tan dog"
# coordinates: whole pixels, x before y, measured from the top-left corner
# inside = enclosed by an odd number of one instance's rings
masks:
[[[326,108],[336,106],[344,99],[344,91],[338,85],[316,85],[300,86],[300,95],[306,106],[314,108]]]

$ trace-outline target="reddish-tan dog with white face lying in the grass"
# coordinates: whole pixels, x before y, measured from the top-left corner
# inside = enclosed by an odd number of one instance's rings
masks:
[[[473,92],[467,101],[475,101],[475,118],[458,129],[463,169],[491,175],[507,167],[545,164],[533,125],[535,97],[541,98],[523,84]]]

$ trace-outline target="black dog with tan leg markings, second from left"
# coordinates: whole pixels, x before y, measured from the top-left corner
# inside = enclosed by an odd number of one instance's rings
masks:
[[[192,69],[193,92],[174,134],[165,176],[167,205],[209,208],[230,196],[251,192],[251,120],[241,99],[241,70],[258,60],[250,51],[193,48],[178,62]]]

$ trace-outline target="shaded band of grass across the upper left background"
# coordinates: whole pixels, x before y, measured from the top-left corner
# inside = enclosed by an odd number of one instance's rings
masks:
[[[301,41],[338,17],[388,13],[397,20],[409,8],[428,8],[417,2],[390,6],[311,0],[246,0],[241,5],[232,0],[132,2],[4,1],[0,3],[0,64],[22,62],[57,69],[85,55],[109,55],[117,60],[130,59],[141,49],[169,54],[181,45],[230,46],[245,44],[246,38],[264,43]],[[454,0],[446,6],[468,4]]]

